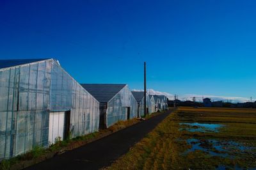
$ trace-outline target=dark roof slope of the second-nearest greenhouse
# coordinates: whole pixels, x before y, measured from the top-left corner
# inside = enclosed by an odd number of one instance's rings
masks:
[[[99,102],[109,102],[126,84],[81,84]]]

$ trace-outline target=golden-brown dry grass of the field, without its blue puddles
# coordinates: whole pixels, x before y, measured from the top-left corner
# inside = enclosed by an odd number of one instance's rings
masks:
[[[216,169],[220,164],[256,167],[256,156],[249,153],[235,152],[234,158],[223,158],[196,150],[184,155],[191,147],[186,143],[189,138],[231,140],[256,147],[255,117],[256,109],[180,107],[105,169]],[[219,122],[226,126],[220,133],[188,132],[179,130],[179,123],[184,121]]]

